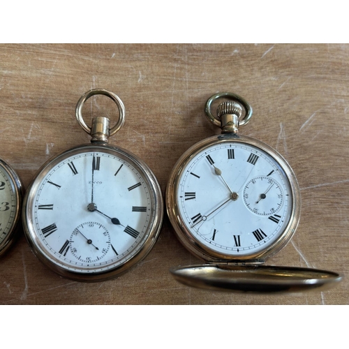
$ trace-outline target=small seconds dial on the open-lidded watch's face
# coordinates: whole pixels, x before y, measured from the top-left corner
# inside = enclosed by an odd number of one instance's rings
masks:
[[[274,170],[271,174],[273,172]],[[283,205],[281,186],[275,179],[267,176],[258,176],[248,181],[243,196],[246,207],[261,216],[276,214]],[[276,215],[278,217],[280,218]]]

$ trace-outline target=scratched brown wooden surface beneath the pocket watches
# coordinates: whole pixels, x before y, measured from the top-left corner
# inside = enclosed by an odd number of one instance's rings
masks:
[[[146,161],[163,192],[177,158],[219,133],[203,114],[207,98],[246,98],[254,114],[241,132],[281,152],[302,191],[299,228],[268,264],[349,274],[349,45],[0,45],[0,156],[26,188],[48,158],[89,142],[74,111],[92,88],[124,101],[110,142]],[[87,118],[117,115],[101,98]],[[253,296],[187,288],[168,272],[195,262],[166,217],[147,258],[102,283],[61,279],[22,235],[0,260],[0,304],[349,304],[348,277],[327,292]]]

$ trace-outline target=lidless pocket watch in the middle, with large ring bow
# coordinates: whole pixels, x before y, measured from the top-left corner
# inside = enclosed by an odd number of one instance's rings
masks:
[[[119,109],[107,117],[82,118],[88,98],[105,95]],[[124,124],[121,99],[93,89],[77,102],[78,124],[91,144],[47,161],[29,186],[22,210],[24,232],[34,254],[60,276],[104,281],[120,276],[151,251],[163,221],[163,198],[150,168],[130,151],[108,145]]]

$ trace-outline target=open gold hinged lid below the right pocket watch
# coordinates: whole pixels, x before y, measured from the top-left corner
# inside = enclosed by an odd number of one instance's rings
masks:
[[[264,294],[323,291],[343,279],[336,272],[274,265],[191,265],[170,272],[174,279],[191,287]]]

